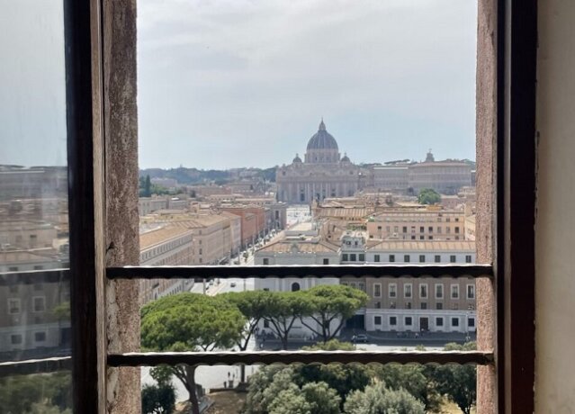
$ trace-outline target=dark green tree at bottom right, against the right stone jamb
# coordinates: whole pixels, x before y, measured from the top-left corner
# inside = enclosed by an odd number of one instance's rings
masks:
[[[475,342],[464,345],[447,344],[445,351],[472,351],[477,349]],[[474,365],[442,365],[436,367],[434,378],[437,389],[463,411],[470,414],[477,402],[477,367]]]

